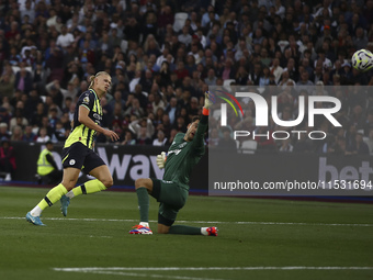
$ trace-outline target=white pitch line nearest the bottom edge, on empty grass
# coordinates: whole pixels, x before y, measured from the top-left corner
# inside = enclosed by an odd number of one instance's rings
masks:
[[[53,268],[66,272],[95,271],[211,271],[211,270],[373,270],[373,267],[86,267],[86,268]]]

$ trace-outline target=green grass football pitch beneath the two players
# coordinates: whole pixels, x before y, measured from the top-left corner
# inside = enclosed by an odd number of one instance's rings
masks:
[[[80,195],[34,226],[24,216],[47,191],[0,187],[0,279],[373,278],[372,204],[190,197],[178,224],[217,237],[129,235],[134,192]],[[154,199],[149,217],[156,231]]]

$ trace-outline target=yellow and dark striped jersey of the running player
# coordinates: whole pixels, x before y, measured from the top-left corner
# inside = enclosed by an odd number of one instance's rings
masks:
[[[88,148],[92,148],[92,144],[97,132],[94,130],[88,128],[86,125],[79,122],[79,108],[86,107],[89,110],[88,116],[100,125],[102,120],[102,108],[93,89],[89,89],[81,93],[77,102],[77,107],[74,113],[74,127],[69,137],[65,142],[64,148],[70,147],[74,143],[80,142]]]

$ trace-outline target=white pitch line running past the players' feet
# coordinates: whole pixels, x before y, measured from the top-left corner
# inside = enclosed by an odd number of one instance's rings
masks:
[[[22,216],[0,216],[0,220],[24,220]],[[121,220],[121,219],[76,219],[76,217],[44,217],[49,221],[84,221],[84,222],[128,222],[138,223],[138,220]],[[150,223],[157,223],[150,220]],[[362,226],[371,227],[373,224],[323,224],[323,223],[282,223],[282,222],[222,222],[222,221],[178,221],[178,223],[191,224],[239,224],[239,225],[307,225],[307,226]]]

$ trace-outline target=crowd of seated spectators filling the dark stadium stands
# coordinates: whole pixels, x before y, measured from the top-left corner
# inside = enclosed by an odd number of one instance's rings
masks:
[[[264,98],[276,87],[283,120],[296,117],[299,96],[315,94],[305,86],[346,86],[321,90],[342,102],[342,127],[315,127],[325,141],[257,138],[258,150],[366,155],[373,94],[349,88],[373,86],[372,71],[351,67],[360,48],[373,51],[373,0],[0,1],[0,138],[64,142],[87,78],[104,70],[112,89],[102,126],[121,145],[170,145],[210,86],[264,87]],[[234,126],[256,127],[252,102],[244,111],[230,130],[212,114],[206,143],[230,145]]]

